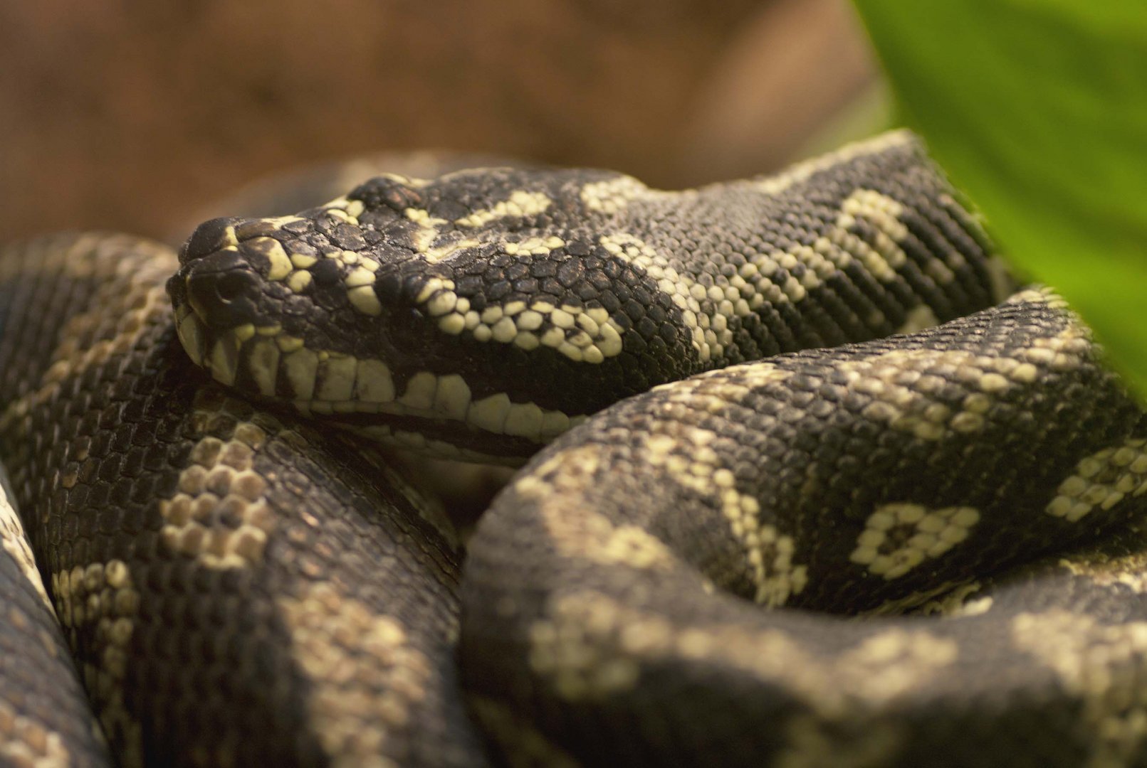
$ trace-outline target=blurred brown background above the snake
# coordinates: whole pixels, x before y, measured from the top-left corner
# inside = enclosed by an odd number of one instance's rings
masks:
[[[751,174],[879,127],[875,80],[845,0],[5,2],[0,240],[381,149]]]

